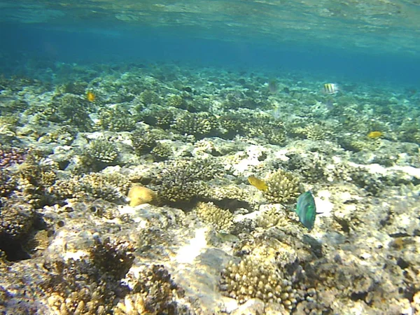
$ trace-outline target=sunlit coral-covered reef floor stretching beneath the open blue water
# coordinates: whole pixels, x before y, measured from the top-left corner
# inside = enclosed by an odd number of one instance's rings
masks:
[[[51,71],[0,79],[1,314],[420,314],[416,90]]]

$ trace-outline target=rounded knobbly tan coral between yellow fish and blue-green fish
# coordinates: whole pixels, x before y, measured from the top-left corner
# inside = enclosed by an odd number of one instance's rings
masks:
[[[262,194],[271,202],[291,204],[300,194],[300,183],[297,177],[283,169],[270,174],[265,182],[268,188]]]

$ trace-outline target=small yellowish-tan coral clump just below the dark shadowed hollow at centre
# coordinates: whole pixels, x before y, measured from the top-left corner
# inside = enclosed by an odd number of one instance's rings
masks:
[[[216,228],[228,232],[233,225],[233,215],[228,210],[216,207],[213,202],[199,202],[193,212],[205,223],[209,223]]]

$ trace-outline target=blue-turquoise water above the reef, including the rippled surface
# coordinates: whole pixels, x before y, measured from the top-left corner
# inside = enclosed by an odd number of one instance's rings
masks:
[[[414,87],[419,17],[416,1],[2,1],[1,69],[178,61]]]

